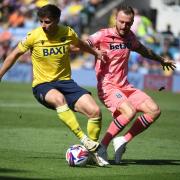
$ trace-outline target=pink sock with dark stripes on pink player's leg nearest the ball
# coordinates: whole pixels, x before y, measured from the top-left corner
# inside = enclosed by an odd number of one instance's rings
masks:
[[[129,123],[129,120],[122,115],[118,116],[114,119],[109,125],[106,134],[104,135],[101,144],[103,144],[106,148],[108,147],[110,141],[123,130],[125,125]]]

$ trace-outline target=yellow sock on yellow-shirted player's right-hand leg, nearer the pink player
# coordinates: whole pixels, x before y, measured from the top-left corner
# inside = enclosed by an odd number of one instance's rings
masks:
[[[87,132],[90,139],[98,141],[101,131],[101,117],[90,118],[87,124]]]

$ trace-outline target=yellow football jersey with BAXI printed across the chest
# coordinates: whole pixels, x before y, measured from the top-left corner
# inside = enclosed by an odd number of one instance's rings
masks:
[[[59,25],[58,32],[51,37],[47,37],[41,27],[28,33],[26,39],[19,42],[18,47],[23,52],[31,52],[32,86],[71,79],[69,47],[70,44],[77,43],[77,34],[68,26]]]

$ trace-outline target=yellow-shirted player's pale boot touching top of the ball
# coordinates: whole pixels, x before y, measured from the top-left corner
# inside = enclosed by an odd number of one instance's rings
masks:
[[[99,143],[98,142],[95,142],[91,139],[89,139],[87,136],[84,137],[82,140],[81,140],[82,144],[84,145],[84,147],[90,151],[90,152],[94,152],[97,150],[97,148],[99,147]]]

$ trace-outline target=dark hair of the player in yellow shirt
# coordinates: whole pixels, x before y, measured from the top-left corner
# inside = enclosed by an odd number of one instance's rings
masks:
[[[37,15],[38,17],[48,17],[48,18],[53,18],[53,19],[59,19],[61,16],[61,10],[53,4],[48,4],[39,8]]]

